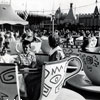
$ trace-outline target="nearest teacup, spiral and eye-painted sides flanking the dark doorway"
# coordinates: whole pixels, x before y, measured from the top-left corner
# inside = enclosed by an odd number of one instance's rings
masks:
[[[63,88],[66,81],[77,75],[82,68],[82,61],[78,56],[70,56],[54,62],[48,62],[48,55],[36,54],[36,57],[42,65],[41,94],[39,100],[85,100],[80,94]],[[68,64],[73,61],[76,62],[74,64],[76,64],[77,69],[72,73],[67,73]],[[21,73],[24,75],[24,70]],[[30,69],[28,74],[31,73],[38,74],[38,70]],[[18,76],[19,73],[15,64],[0,63],[0,95],[3,97],[3,100],[21,100]]]

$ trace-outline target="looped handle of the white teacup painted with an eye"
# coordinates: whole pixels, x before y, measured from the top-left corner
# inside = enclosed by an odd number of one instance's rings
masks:
[[[73,71],[73,72],[71,72],[71,73],[66,73],[65,74],[65,79],[64,79],[64,85],[66,85],[66,81],[68,80],[68,79],[70,79],[70,78],[72,78],[73,76],[75,76],[75,75],[77,75],[79,72],[80,72],[80,70],[82,69],[82,67],[83,67],[83,63],[82,63],[82,60],[80,59],[80,57],[78,57],[78,56],[71,56],[70,58],[68,58],[68,60],[67,60],[67,64],[66,64],[66,66],[67,66],[67,69],[68,69],[68,64],[69,64],[69,62],[70,61],[72,61],[72,60],[76,60],[76,62],[78,62],[77,64],[77,66],[76,66],[76,70],[75,71]]]

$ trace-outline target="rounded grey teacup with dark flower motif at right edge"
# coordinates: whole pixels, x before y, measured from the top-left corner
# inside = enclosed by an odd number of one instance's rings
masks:
[[[100,54],[95,52],[80,52],[83,61],[83,70],[90,81],[100,85]]]

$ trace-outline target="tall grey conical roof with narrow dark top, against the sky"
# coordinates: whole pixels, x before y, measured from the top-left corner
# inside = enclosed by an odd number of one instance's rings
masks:
[[[73,14],[73,3],[70,3],[70,10],[68,12],[68,15],[65,18],[66,23],[75,23],[75,17]]]

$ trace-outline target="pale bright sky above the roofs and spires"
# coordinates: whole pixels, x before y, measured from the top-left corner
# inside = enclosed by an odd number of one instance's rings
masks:
[[[33,11],[36,14],[52,14],[61,8],[63,13],[68,13],[70,3],[73,3],[74,14],[93,13],[96,0],[0,0],[0,3],[10,3],[14,10]],[[97,0],[100,9],[100,0]]]

